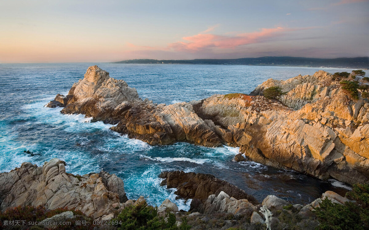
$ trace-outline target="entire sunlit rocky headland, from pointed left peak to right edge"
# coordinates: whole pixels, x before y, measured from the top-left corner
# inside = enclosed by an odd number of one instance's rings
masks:
[[[270,86],[287,92],[282,103],[260,96]],[[57,95],[51,104],[65,106],[62,113],[118,123],[113,130],[152,145],[239,146],[255,162],[321,179],[368,183],[368,99],[349,99],[324,71],[286,81],[269,79],[251,95],[157,105],[93,66],[64,99]]]

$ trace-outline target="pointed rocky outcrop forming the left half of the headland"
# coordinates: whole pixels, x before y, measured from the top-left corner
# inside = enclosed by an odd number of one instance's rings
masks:
[[[142,100],[123,80],[109,77],[97,66],[73,84],[67,96],[57,95],[48,107],[61,106],[63,114],[82,113],[93,121],[117,124],[112,130],[151,145],[187,141],[196,145],[220,146],[221,139],[194,112],[190,103],[157,105]]]

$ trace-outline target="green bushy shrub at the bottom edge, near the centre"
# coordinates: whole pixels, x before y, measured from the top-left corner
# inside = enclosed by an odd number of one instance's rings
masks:
[[[187,224],[187,219],[182,219],[182,224],[176,226],[176,216],[173,213],[167,213],[167,221],[164,217],[158,216],[158,208],[147,205],[146,201],[142,201],[137,205],[125,207],[117,216],[119,230],[189,230],[191,226]]]

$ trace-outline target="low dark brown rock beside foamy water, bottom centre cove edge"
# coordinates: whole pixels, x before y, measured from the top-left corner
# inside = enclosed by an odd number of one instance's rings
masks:
[[[259,204],[254,197],[246,194],[244,190],[211,174],[171,171],[162,172],[159,177],[166,179],[168,188],[177,188],[176,195],[184,199],[193,199],[191,202],[192,208],[198,208],[210,195],[215,194],[217,196],[221,191],[235,199],[248,199],[254,205]],[[197,207],[193,204],[196,204]]]

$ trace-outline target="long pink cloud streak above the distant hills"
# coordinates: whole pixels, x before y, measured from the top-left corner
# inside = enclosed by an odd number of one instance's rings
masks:
[[[292,31],[295,29],[263,28],[261,31],[241,33],[235,36],[222,36],[214,34],[199,33],[194,36],[184,37],[185,42],[174,42],[168,45],[169,49],[176,51],[199,51],[206,48],[232,49],[238,46],[259,43],[264,40],[280,36],[281,32]]]

